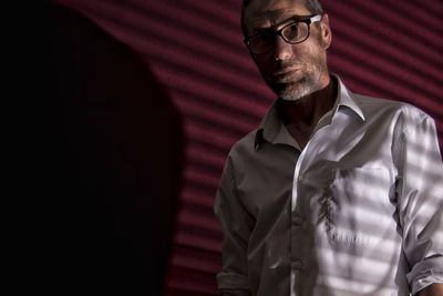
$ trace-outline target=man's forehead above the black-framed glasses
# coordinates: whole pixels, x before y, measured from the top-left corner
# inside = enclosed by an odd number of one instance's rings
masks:
[[[245,10],[247,28],[275,25],[293,16],[309,16],[303,0],[253,0]]]

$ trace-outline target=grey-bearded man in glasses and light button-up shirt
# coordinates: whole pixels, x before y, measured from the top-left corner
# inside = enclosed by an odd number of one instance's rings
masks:
[[[316,0],[244,1],[241,25],[278,99],[220,178],[223,295],[443,295],[433,120],[328,72]]]

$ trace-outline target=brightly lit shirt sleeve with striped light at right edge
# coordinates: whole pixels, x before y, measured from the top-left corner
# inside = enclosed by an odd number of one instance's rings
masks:
[[[434,121],[422,116],[400,137],[399,198],[412,295],[443,283],[443,164]]]

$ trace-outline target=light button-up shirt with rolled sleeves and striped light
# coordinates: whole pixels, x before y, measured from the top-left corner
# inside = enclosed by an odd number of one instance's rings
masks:
[[[214,205],[225,233],[222,292],[405,296],[443,283],[434,121],[337,80],[336,104],[303,151],[279,119],[278,100],[230,150]]]

